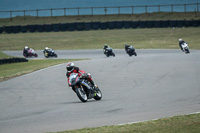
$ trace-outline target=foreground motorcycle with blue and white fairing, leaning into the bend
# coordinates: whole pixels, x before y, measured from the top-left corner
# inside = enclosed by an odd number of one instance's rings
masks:
[[[88,99],[92,98],[95,100],[101,100],[102,98],[100,89],[93,87],[87,80],[87,74],[79,77],[78,73],[72,73],[69,77],[69,85],[82,102],[87,102]]]

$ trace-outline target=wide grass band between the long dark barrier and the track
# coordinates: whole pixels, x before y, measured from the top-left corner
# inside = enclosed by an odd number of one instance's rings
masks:
[[[114,49],[124,49],[125,43],[136,49],[179,49],[179,38],[188,42],[190,49],[200,49],[199,35],[200,27],[0,34],[0,51],[23,50],[26,45],[36,50],[46,46],[53,49],[102,49],[105,43]]]

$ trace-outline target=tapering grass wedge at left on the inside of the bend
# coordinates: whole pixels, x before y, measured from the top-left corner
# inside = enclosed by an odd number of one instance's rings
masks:
[[[12,77],[27,74],[53,65],[77,60],[79,59],[35,59],[29,60],[28,62],[3,64],[0,65],[0,81],[4,81]]]

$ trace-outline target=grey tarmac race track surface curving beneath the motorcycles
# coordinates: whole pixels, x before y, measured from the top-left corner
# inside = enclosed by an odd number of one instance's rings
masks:
[[[75,65],[92,74],[102,100],[82,103],[67,86],[66,64],[0,82],[0,132],[44,133],[200,112],[199,50],[136,50],[138,56],[129,57],[118,49],[109,58],[102,50],[56,52],[58,58],[91,59]]]

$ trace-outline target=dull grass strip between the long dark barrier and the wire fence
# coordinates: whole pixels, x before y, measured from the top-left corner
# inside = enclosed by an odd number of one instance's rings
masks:
[[[35,17],[25,16],[0,19],[0,26],[31,25],[31,24],[52,24],[52,23],[73,23],[73,22],[106,22],[106,21],[138,21],[138,20],[191,20],[200,19],[199,12],[157,12],[142,14],[121,14],[121,15],[80,15],[80,16],[56,16],[56,17]]]

